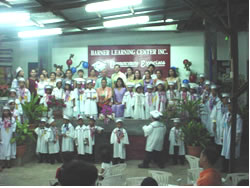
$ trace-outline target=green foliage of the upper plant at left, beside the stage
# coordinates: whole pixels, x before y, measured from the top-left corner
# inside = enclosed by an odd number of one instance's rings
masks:
[[[39,96],[32,94],[30,102],[25,102],[22,104],[23,112],[28,118],[29,123],[33,124],[38,121],[44,112],[47,112],[47,107],[42,104],[38,104]]]

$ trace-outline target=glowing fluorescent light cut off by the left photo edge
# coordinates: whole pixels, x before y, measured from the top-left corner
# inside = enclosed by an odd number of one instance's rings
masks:
[[[27,12],[4,12],[0,13],[0,24],[17,24],[30,19]]]

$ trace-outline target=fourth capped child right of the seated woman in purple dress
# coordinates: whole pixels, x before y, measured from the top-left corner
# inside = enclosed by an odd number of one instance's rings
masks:
[[[163,113],[166,109],[166,91],[165,91],[165,83],[161,80],[156,82],[156,92],[155,92],[155,109],[161,113]]]

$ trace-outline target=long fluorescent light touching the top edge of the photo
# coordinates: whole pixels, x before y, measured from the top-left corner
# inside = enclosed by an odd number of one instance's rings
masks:
[[[141,4],[142,0],[110,0],[91,3],[85,6],[87,12],[101,12]]]

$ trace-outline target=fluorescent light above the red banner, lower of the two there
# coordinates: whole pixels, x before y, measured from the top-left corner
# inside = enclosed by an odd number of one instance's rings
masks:
[[[149,16],[138,16],[103,22],[104,27],[119,27],[125,25],[143,24],[149,21]]]

